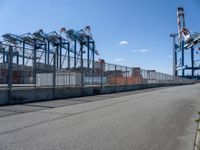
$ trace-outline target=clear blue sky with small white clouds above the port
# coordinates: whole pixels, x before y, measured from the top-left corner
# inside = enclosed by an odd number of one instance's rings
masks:
[[[178,6],[199,32],[200,0],[0,0],[0,35],[90,25],[106,62],[171,74]]]

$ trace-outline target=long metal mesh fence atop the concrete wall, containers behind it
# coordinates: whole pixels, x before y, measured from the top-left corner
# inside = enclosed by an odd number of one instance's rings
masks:
[[[169,74],[144,70],[138,67],[126,67],[108,64],[104,61],[79,59],[76,66],[73,57],[70,60],[60,60],[63,67],[56,64],[59,61],[56,54],[50,54],[50,64],[32,61],[24,65],[22,60],[16,60],[13,48],[8,51],[7,60],[0,63],[0,87],[12,88],[59,88],[59,87],[90,87],[119,86],[136,84],[189,84],[193,80],[175,77]],[[37,55],[39,55],[37,53]],[[35,59],[34,59],[35,58]],[[77,59],[77,58],[76,58]],[[18,63],[16,63],[18,61]],[[23,60],[23,61],[26,61]],[[21,62],[21,63],[20,63]]]

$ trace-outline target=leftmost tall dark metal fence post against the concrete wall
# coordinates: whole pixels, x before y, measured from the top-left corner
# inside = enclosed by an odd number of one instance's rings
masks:
[[[12,102],[12,68],[13,68],[13,47],[9,46],[9,60],[8,60],[8,94],[9,94],[9,100],[8,103]]]

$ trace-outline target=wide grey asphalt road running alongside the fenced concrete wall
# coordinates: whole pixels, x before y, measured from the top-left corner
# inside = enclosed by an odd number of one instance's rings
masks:
[[[192,150],[200,84],[0,107],[1,150]]]

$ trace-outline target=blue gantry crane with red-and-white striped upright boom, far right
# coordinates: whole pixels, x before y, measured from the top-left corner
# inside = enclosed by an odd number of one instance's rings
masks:
[[[173,73],[175,76],[200,79],[200,33],[191,33],[186,28],[182,7],[177,9],[177,22],[178,34],[170,35],[173,37]],[[190,52],[190,62],[186,61],[186,51]]]

